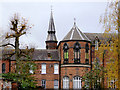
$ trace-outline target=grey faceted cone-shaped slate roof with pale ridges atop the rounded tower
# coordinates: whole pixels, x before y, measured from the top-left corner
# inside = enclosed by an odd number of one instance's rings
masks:
[[[81,32],[81,30],[76,26],[76,23],[74,22],[74,25],[72,29],[68,32],[68,34],[64,37],[62,41],[65,40],[87,40],[90,41],[90,39]]]

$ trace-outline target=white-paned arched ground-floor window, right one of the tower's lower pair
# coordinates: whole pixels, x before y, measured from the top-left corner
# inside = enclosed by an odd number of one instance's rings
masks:
[[[73,78],[73,89],[81,89],[81,88],[82,88],[81,78],[79,76],[75,76]]]

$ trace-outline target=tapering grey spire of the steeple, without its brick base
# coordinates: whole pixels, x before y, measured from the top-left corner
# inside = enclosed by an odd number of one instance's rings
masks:
[[[48,28],[48,36],[46,41],[57,41],[56,35],[55,35],[55,25],[53,20],[53,12],[51,9],[51,16],[49,21],[49,28]]]

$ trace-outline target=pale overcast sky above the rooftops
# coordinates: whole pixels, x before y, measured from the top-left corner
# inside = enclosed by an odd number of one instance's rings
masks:
[[[16,0],[19,1],[19,0]],[[19,1],[0,3],[0,28],[7,32],[9,30],[9,20],[14,13],[19,13],[22,17],[29,20],[34,27],[25,36],[20,38],[23,45],[35,45],[37,48],[45,48],[45,40],[50,19],[51,5],[53,6],[53,17],[56,28],[57,40],[62,40],[73,26],[74,18],[76,24],[82,32],[101,33],[103,28],[99,23],[99,18],[104,14],[107,2],[100,1],[73,1],[68,0],[57,2],[52,1]]]

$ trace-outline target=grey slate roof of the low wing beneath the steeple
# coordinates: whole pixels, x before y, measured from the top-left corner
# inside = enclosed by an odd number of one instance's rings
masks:
[[[4,54],[10,54],[14,52],[14,50],[2,50],[2,59],[5,59],[8,56],[4,56]],[[48,58],[48,53],[51,55]],[[35,49],[31,54],[32,60],[60,60],[58,50],[46,50],[46,49]],[[11,60],[15,60],[15,56],[10,58]]]

